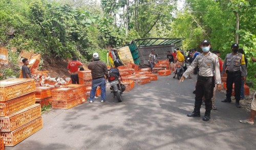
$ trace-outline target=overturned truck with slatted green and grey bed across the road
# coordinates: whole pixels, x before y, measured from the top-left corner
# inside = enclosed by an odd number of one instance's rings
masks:
[[[126,47],[113,49],[108,53],[109,65],[114,67],[113,61],[119,58],[124,64],[135,63],[140,67],[148,65],[148,55],[155,50],[158,60],[165,60],[167,51],[173,52],[182,47],[185,38],[140,38],[131,40]]]

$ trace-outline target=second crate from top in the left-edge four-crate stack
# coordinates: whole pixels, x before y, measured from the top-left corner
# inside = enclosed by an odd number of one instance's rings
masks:
[[[0,102],[0,117],[11,115],[35,103],[35,93],[30,93],[6,102]]]

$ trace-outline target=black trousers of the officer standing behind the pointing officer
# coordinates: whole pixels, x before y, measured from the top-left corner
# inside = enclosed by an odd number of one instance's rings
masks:
[[[226,97],[231,100],[232,88],[234,83],[234,97],[236,102],[239,102],[241,97],[241,71],[229,72],[227,71],[227,93]]]

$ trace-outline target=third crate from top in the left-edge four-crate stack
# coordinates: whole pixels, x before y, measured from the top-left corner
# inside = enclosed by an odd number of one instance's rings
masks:
[[[39,104],[33,104],[28,108],[13,113],[6,117],[0,117],[0,131],[11,132],[41,116]]]

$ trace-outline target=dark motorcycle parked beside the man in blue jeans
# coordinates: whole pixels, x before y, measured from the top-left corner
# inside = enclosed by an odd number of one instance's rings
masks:
[[[110,83],[111,93],[114,94],[114,97],[117,97],[118,102],[122,102],[122,93],[125,91],[125,85],[121,83],[121,76],[117,68],[110,69],[110,76],[108,78]]]

